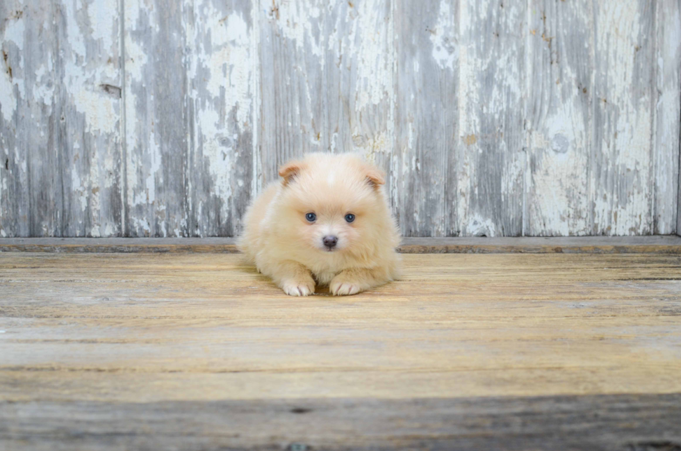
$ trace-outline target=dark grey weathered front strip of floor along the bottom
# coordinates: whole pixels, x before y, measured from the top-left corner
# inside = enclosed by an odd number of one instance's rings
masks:
[[[675,451],[680,403],[678,394],[0,402],[0,443],[35,451]]]

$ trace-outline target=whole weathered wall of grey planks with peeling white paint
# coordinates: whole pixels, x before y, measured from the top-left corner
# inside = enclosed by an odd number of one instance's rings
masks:
[[[360,151],[407,236],[681,231],[678,0],[3,0],[0,236],[233,236]]]

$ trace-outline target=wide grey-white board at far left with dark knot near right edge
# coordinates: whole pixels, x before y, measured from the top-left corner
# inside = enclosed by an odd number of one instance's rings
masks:
[[[3,8],[0,236],[120,234],[117,1]]]

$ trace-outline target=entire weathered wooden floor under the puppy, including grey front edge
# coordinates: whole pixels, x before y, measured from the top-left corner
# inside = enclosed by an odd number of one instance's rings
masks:
[[[681,254],[0,252],[0,450],[681,450]]]

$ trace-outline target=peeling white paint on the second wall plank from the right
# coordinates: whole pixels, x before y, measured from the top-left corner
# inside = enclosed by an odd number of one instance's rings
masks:
[[[598,93],[607,97],[597,99],[607,131],[598,143],[603,167],[593,177],[606,176],[592,179],[592,186],[598,187],[593,195],[593,222],[597,233],[650,233],[651,102],[649,91],[643,87],[637,87],[642,95],[635,100],[632,96],[637,53],[634,46],[641,33],[639,3],[610,0],[597,4],[596,48],[600,63],[609,70],[607,90]],[[608,179],[616,182],[607,183]],[[621,183],[626,186],[625,192]]]

